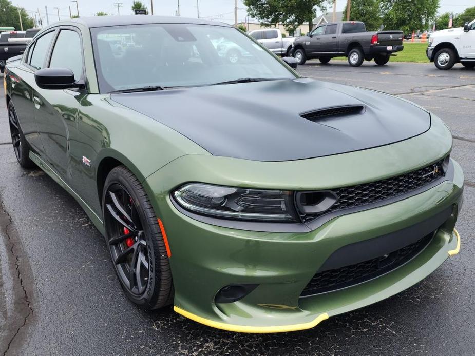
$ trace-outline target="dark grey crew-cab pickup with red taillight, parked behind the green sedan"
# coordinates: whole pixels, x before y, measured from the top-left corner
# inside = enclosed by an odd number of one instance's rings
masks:
[[[340,21],[317,26],[295,39],[292,56],[298,64],[312,58],[328,63],[333,57],[345,56],[350,66],[358,67],[373,59],[376,64],[386,64],[391,53],[403,48],[403,31],[367,32],[362,22]]]

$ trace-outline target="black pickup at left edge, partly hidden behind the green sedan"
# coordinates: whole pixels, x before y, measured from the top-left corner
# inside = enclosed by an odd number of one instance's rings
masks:
[[[3,73],[8,58],[25,52],[26,46],[40,29],[6,31],[0,33],[0,71]]]

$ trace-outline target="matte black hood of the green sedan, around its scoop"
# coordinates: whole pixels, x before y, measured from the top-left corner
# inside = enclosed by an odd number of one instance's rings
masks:
[[[213,155],[289,161],[388,145],[430,128],[430,114],[400,98],[306,78],[117,93],[112,100],[180,132]],[[310,121],[302,113],[363,106]]]

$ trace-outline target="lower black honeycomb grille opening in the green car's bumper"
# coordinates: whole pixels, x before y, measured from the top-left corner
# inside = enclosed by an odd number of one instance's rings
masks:
[[[412,260],[430,243],[434,233],[389,254],[337,269],[318,271],[300,296],[331,292],[372,280]]]

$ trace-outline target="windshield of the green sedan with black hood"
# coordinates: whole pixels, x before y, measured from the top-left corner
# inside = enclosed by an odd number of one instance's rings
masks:
[[[91,34],[103,93],[296,77],[232,27],[147,24],[92,28]]]

